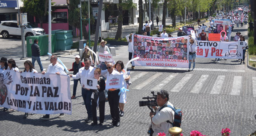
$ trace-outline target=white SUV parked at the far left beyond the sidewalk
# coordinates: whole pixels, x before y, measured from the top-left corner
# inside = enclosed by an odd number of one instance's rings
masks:
[[[9,36],[21,36],[21,28],[19,28],[17,21],[1,21],[0,33],[3,38],[9,38]],[[25,26],[24,33],[25,37],[43,35],[45,34],[45,30],[28,22],[28,25]]]

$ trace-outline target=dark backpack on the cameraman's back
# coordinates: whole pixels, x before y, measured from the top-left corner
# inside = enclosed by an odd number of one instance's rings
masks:
[[[174,120],[173,120],[173,122],[170,122],[169,120],[167,120],[166,122],[171,123],[173,125],[173,127],[180,127],[181,120],[182,120],[182,111],[179,108],[175,108],[175,107],[173,108],[170,105],[162,106],[160,108],[160,110],[162,110],[165,107],[169,107],[169,108],[171,108],[174,111]]]

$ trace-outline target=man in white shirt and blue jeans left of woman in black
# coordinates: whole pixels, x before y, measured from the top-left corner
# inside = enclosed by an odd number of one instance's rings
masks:
[[[91,64],[90,59],[85,59],[84,60],[85,66],[83,68],[80,68],[78,70],[78,73],[76,75],[69,75],[73,79],[79,79],[81,78],[81,84],[86,84],[86,78],[94,78],[94,70]],[[83,101],[85,103],[85,108],[87,110],[87,119],[85,119],[86,123],[92,122],[92,91],[90,89],[84,88],[82,85],[82,96],[83,96]]]

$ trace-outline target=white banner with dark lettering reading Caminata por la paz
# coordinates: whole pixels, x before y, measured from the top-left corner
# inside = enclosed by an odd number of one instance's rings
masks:
[[[0,107],[25,113],[71,115],[70,77],[0,70]]]

